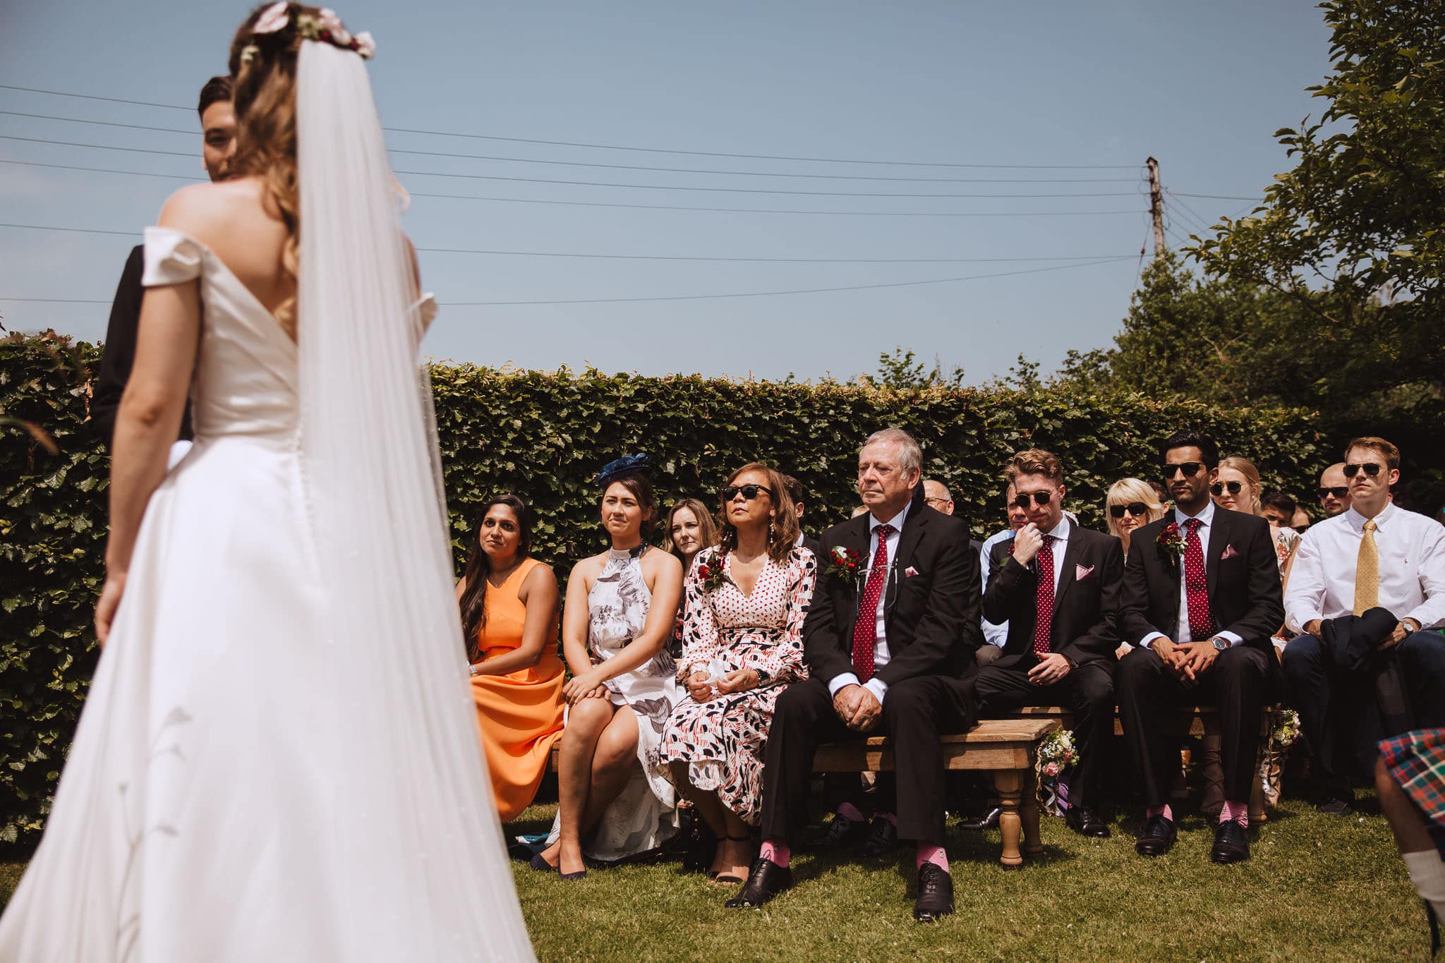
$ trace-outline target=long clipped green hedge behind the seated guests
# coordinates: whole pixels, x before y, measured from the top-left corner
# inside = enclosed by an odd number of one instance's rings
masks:
[[[85,424],[98,349],[53,335],[0,342],[0,842],[32,843],[95,663],[91,606],[103,576],[108,459]],[[805,527],[857,504],[854,458],[870,432],[897,424],[923,445],[925,474],[954,491],[984,537],[1003,526],[998,478],[1009,455],[1049,448],[1068,469],[1069,504],[1103,526],[1104,489],[1149,476],[1155,445],[1181,427],[1212,432],[1253,459],[1266,484],[1303,495],[1338,439],[1322,445],[1308,413],[1220,411],[1140,396],[1007,390],[890,391],[598,371],[497,371],[435,365],[432,385],[458,569],[481,502],[514,491],[538,510],[535,550],[565,578],[604,547],[590,478],[618,455],[657,465],[663,505],[711,502],[728,472],[759,459],[802,481]],[[49,430],[49,453],[19,422]]]

